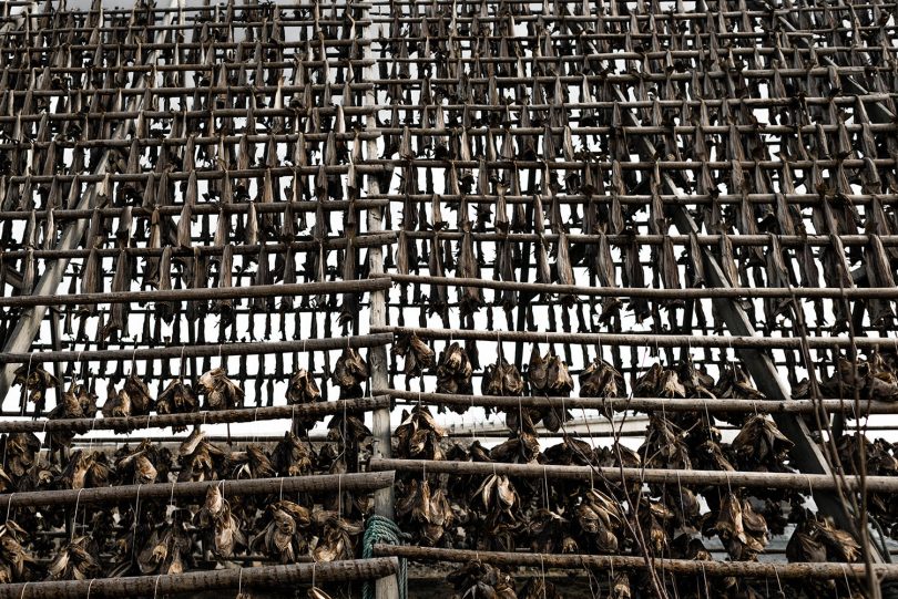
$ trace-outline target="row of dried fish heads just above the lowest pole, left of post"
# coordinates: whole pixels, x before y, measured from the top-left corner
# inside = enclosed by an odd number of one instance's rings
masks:
[[[122,507],[114,514],[86,509],[83,517],[84,534],[59,546],[42,539],[52,530],[7,520],[0,527],[0,581],[176,575],[249,555],[273,564],[355,559],[363,531],[355,517],[320,504],[274,497],[246,505],[225,498],[217,486],[198,504],[169,506],[167,514],[164,505],[150,504],[139,514]]]

